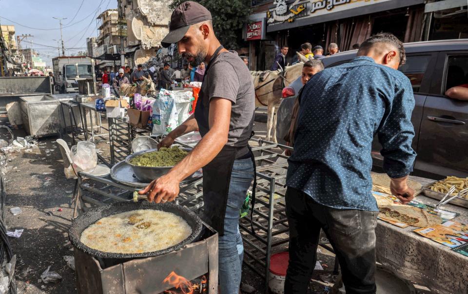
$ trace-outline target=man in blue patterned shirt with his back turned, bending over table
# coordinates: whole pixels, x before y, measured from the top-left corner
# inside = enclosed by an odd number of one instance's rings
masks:
[[[414,97],[409,79],[397,70],[403,63],[403,44],[380,33],[363,42],[350,63],[327,68],[305,85],[286,182],[286,294],[306,293],[320,229],[338,257],[346,293],[376,292],[374,135],[383,146],[393,195],[408,203],[414,194],[407,186],[416,156],[410,121]]]

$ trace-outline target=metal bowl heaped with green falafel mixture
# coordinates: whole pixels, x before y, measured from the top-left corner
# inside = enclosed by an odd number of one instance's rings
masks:
[[[121,184],[145,188],[152,180],[169,172],[189,151],[190,149],[180,147],[138,151],[114,165],[110,175],[113,180]],[[180,185],[192,184],[201,179],[202,175],[199,169],[180,182]]]

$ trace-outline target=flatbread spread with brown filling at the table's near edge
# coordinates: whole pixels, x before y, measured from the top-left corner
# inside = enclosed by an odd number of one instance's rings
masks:
[[[409,205],[392,205],[379,208],[379,217],[415,227],[431,227],[442,223],[442,218]]]

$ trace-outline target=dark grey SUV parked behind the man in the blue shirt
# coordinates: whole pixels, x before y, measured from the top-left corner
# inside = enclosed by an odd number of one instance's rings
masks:
[[[406,43],[406,64],[399,70],[411,81],[415,106],[412,147],[417,153],[413,175],[441,179],[468,176],[468,101],[444,95],[453,86],[468,84],[468,39]],[[357,50],[322,59],[325,67],[350,62]],[[289,128],[292,105],[302,84],[300,78],[283,89],[278,109],[277,140]],[[289,117],[288,117],[289,116]],[[287,126],[287,127],[285,127]],[[382,146],[372,143],[373,169],[381,170]]]

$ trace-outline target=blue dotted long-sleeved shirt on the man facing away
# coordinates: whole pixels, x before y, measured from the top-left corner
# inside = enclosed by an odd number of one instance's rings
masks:
[[[314,75],[300,97],[286,185],[331,208],[377,211],[372,139],[377,135],[383,146],[387,174],[408,175],[416,157],[413,108],[409,79],[369,57]]]

